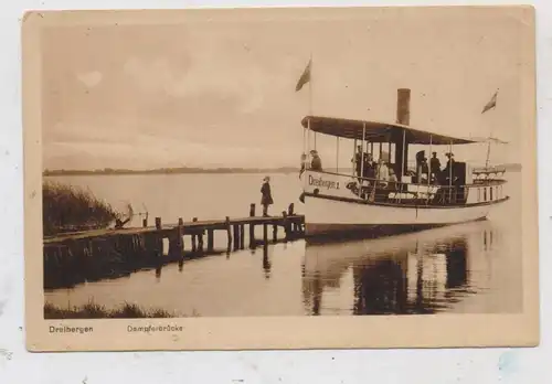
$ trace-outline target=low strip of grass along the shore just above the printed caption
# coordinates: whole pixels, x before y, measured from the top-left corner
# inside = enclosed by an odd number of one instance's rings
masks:
[[[135,303],[125,302],[119,308],[107,309],[89,301],[82,307],[60,308],[50,302],[44,305],[44,319],[141,319],[173,318],[174,314],[163,309],[146,310]]]

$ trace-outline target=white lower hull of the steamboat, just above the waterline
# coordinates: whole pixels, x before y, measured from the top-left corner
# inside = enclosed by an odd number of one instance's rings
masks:
[[[492,204],[400,206],[305,196],[305,234],[395,235],[410,231],[485,220]]]

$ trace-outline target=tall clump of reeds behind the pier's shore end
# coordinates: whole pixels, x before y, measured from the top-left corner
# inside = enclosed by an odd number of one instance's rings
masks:
[[[42,185],[44,235],[105,228],[120,214],[92,192],[73,185],[44,182]]]

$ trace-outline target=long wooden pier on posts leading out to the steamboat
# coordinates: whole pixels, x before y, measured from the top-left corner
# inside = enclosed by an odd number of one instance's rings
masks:
[[[269,243],[289,242],[305,234],[305,217],[294,204],[278,216],[257,216],[251,204],[248,216],[201,221],[179,217],[176,224],[155,225],[144,220],[141,227],[106,228],[63,233],[44,237],[44,287],[70,287],[78,282],[128,275],[144,268],[158,268],[185,258],[251,248]],[[255,227],[263,234],[256,237]],[[269,235],[272,230],[272,236]],[[283,236],[278,236],[282,230]],[[225,236],[225,248],[216,247],[215,233]],[[184,242],[185,237],[188,242]],[[205,242],[206,241],[206,242]],[[247,245],[245,244],[247,242]],[[168,243],[164,249],[163,243]],[[184,244],[189,244],[189,248]]]

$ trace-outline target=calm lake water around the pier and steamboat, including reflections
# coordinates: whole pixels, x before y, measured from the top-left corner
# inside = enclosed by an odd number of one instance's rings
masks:
[[[263,175],[128,175],[51,178],[89,188],[150,217],[222,218],[248,214]],[[60,307],[94,300],[136,302],[190,316],[518,312],[522,309],[520,173],[509,175],[510,202],[489,221],[379,239],[306,245],[304,241],[209,256],[129,277],[47,291]],[[272,177],[274,212],[297,201],[297,174]],[[512,188],[513,186],[513,188]],[[135,225],[141,224],[136,217]],[[187,241],[189,241],[187,238]],[[224,247],[224,235],[215,239]],[[216,245],[216,244],[215,244]],[[189,244],[185,244],[189,247]]]

